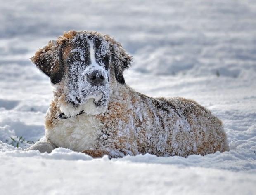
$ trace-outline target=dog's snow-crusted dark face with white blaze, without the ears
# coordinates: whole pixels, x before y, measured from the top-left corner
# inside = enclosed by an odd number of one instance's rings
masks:
[[[77,107],[90,99],[97,110],[105,108],[109,99],[109,43],[96,36],[77,34],[62,44],[60,54],[66,101]]]

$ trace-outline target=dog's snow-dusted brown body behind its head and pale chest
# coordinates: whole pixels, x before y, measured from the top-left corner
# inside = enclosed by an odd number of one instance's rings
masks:
[[[157,156],[206,155],[228,150],[222,122],[195,101],[184,98],[152,98],[129,87],[111,102],[104,143],[124,154],[151,153]],[[102,140],[103,141],[103,140]]]

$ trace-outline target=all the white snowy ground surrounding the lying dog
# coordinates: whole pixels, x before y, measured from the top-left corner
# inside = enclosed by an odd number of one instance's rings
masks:
[[[256,193],[255,0],[0,5],[0,194]],[[113,160],[64,148],[21,151],[44,136],[52,98],[50,80],[28,58],[69,29],[121,42],[134,57],[126,83],[137,91],[209,108],[223,120],[230,151]]]

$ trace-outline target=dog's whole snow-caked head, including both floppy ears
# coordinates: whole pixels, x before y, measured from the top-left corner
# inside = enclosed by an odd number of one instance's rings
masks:
[[[131,60],[113,38],[92,31],[64,33],[31,58],[50,77],[60,109],[69,116],[106,111],[111,85],[125,84],[123,71]]]

